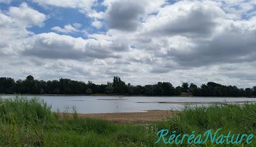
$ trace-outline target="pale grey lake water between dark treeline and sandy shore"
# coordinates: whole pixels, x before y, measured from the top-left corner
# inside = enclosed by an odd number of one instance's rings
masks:
[[[13,96],[1,96],[12,98]],[[14,96],[15,97],[15,96]],[[185,105],[244,104],[256,98],[230,97],[97,97],[97,96],[28,96],[39,97],[52,106],[52,111],[76,107],[79,113],[146,112],[148,110],[180,110]]]

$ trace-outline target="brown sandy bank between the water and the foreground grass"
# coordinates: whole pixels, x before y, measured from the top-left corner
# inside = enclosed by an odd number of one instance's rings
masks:
[[[177,111],[120,112],[100,114],[78,114],[78,118],[95,118],[113,123],[150,123],[172,117]],[[72,118],[72,114],[69,114]]]

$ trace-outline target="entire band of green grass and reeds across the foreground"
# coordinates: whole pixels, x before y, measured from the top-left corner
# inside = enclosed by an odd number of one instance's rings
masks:
[[[256,104],[186,107],[171,118],[151,124],[114,124],[80,119],[76,113],[72,119],[65,112],[63,116],[52,113],[36,98],[0,99],[0,146],[170,146],[163,141],[154,143],[162,128],[176,130],[177,134],[193,130],[203,134],[218,128],[223,128],[221,133],[256,132]],[[255,145],[254,140],[250,146]]]

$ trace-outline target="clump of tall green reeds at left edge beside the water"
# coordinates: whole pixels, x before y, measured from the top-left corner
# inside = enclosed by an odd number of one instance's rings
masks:
[[[19,125],[51,125],[54,116],[44,101],[33,98],[0,99],[0,123]]]

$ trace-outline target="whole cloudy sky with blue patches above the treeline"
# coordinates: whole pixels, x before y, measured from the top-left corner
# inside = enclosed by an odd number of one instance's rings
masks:
[[[256,0],[0,0],[0,77],[256,86]]]

